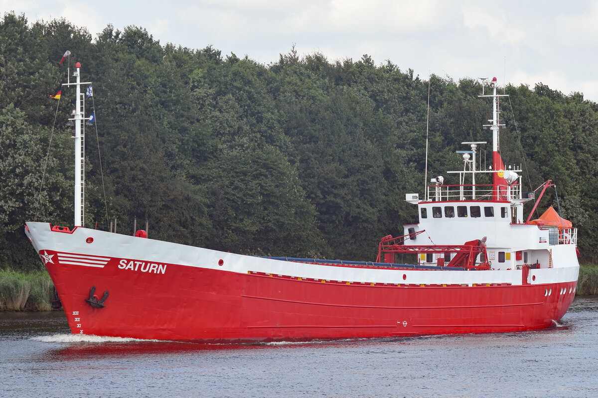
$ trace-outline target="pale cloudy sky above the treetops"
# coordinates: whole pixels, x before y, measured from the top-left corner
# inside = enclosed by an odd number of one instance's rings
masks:
[[[2,15],[65,18],[93,38],[138,26],[164,45],[247,55],[295,47],[330,62],[368,54],[402,71],[581,92],[598,102],[598,0],[0,0]]]

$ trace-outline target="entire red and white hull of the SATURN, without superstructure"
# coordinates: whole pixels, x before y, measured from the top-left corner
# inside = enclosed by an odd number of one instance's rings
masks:
[[[576,287],[576,277],[450,283],[462,273],[488,271],[297,264],[84,228],[53,232],[47,223],[28,223],[28,235],[75,334],[241,342],[524,331],[560,320]],[[189,264],[193,257],[196,263]],[[340,271],[355,280],[321,278]],[[386,271],[388,282],[375,271]],[[418,283],[417,273],[449,283]],[[364,278],[370,282],[358,280]],[[96,299],[109,292],[105,307],[87,303],[93,287]]]

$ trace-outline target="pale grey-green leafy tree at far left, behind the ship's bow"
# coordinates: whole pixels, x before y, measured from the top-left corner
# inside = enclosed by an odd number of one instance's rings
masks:
[[[50,153],[48,141],[52,137]],[[72,171],[62,153],[71,143],[64,131],[32,127],[9,105],[0,113],[0,263],[39,266],[26,251],[25,221],[72,224]],[[48,157],[47,157],[48,155]],[[47,163],[46,163],[47,157]],[[46,174],[44,175],[44,171]],[[43,181],[43,186],[42,186]],[[35,260],[35,261],[34,261]]]

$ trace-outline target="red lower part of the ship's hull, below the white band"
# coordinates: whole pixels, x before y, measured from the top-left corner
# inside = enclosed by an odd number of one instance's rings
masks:
[[[73,333],[177,341],[542,329],[561,319],[576,287],[576,282],[515,286],[322,282],[175,264],[167,267],[168,277],[157,278],[155,273],[134,271],[123,277],[117,259],[103,268],[47,264]],[[96,286],[99,297],[109,291],[105,308],[86,303],[91,286]]]

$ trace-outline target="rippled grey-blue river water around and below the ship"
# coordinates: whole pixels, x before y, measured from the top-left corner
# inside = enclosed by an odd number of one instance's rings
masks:
[[[536,332],[225,345],[0,313],[0,397],[598,397],[598,297]]]

